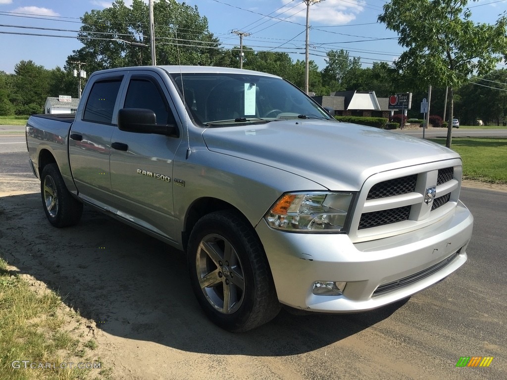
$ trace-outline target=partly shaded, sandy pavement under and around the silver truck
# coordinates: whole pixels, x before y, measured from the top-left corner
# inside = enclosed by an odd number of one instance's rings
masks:
[[[0,153],[1,182],[26,179],[37,192],[26,157]],[[475,216],[469,259],[442,283],[368,313],[282,311],[244,334],[203,316],[182,254],[88,208],[78,226],[58,230],[38,194],[0,198],[0,254],[105,321],[104,362],[132,379],[505,379],[507,193],[463,188],[461,199]],[[456,368],[461,356],[494,359]]]

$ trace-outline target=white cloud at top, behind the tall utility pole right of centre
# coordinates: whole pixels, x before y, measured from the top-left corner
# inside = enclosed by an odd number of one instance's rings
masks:
[[[282,13],[294,7],[292,0],[282,0],[286,6],[278,11]],[[363,12],[362,5],[355,0],[347,3],[342,0],[325,0],[324,2],[315,3],[310,6],[310,24],[330,24],[344,25],[355,19],[356,14]],[[306,19],[306,4],[300,3],[295,8],[280,15],[279,17],[287,17],[294,15],[292,19]]]

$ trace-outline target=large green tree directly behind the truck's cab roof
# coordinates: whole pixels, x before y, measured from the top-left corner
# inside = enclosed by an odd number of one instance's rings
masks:
[[[68,56],[65,68],[75,68],[73,62],[78,61],[86,63],[88,72],[152,63],[149,8],[142,0],[133,0],[132,7],[116,0],[111,7],[86,12],[81,19],[78,39],[83,47]],[[219,41],[197,7],[176,0],[156,2],[154,24],[157,64],[210,65],[222,59]]]

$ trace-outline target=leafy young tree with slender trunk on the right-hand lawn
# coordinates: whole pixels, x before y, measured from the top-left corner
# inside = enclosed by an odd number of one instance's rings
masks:
[[[419,83],[449,86],[449,120],[454,115],[454,89],[473,73],[484,75],[507,61],[507,17],[496,25],[474,23],[468,0],[391,0],[378,20],[399,34],[407,48],[396,67]],[[451,147],[452,123],[446,145]]]

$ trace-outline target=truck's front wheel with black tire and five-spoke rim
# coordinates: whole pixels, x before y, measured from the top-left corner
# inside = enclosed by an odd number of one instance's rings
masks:
[[[187,254],[194,293],[216,325],[247,331],[280,311],[264,248],[237,212],[217,211],[199,219]]]

